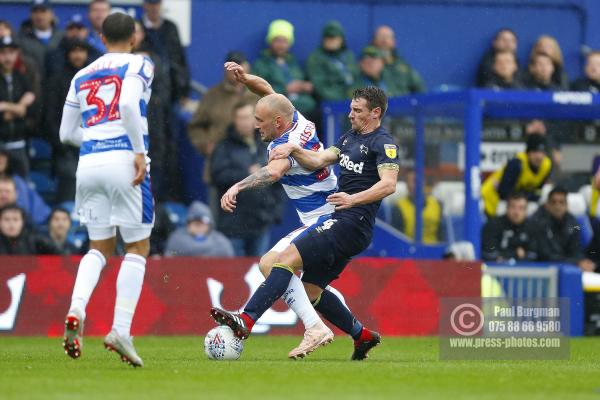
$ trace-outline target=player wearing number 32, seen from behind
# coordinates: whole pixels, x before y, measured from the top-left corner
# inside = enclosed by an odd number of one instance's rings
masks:
[[[102,39],[108,53],[79,71],[65,102],[60,138],[80,146],[76,209],[87,226],[90,250],[81,259],[65,322],[64,349],[81,356],[85,308],[102,268],[113,255],[116,228],[127,254],[117,278],[112,330],[104,346],[142,367],[130,336],[146,269],[154,200],[147,160],[148,122],[141,110],[150,99],[154,65],[130,54],[135,24],[122,13],[108,16]]]

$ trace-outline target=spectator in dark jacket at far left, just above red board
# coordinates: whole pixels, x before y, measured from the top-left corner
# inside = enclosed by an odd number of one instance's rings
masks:
[[[0,208],[0,255],[59,254],[46,237],[30,230],[17,205]]]

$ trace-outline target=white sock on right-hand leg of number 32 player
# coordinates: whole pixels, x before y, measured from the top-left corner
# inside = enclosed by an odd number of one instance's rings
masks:
[[[145,272],[146,259],[144,257],[131,253],[125,254],[117,277],[113,330],[126,338],[130,336],[131,322],[142,293]]]

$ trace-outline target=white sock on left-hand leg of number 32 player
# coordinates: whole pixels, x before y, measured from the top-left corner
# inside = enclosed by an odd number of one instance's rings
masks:
[[[98,250],[92,249],[83,256],[77,269],[77,278],[73,287],[69,311],[77,310],[85,319],[85,308],[98,284],[100,273],[105,265],[106,259]]]

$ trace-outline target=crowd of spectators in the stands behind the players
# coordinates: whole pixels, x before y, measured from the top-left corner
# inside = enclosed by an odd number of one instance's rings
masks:
[[[232,184],[263,166],[267,159],[266,145],[254,129],[253,111],[258,97],[229,73],[203,95],[188,126],[190,142],[205,160],[203,178],[209,187],[208,204],[190,205],[179,229],[162,206],[163,202],[180,200],[173,188],[173,180],[180,175],[173,110],[189,98],[190,71],[176,24],[162,16],[161,6],[161,0],[143,1],[134,48],[137,54],[151,58],[156,67],[147,110],[153,192],[158,201],[152,251],[169,255],[260,255],[268,249],[270,227],[282,218],[285,196],[281,187],[274,185],[240,195],[234,214],[224,213],[218,207],[219,197]],[[79,152],[61,144],[58,131],[63,99],[72,77],[106,52],[100,32],[110,12],[108,0],[92,0],[87,15],[72,15],[61,29],[49,2],[34,0],[30,18],[20,26],[0,19],[0,254],[74,254],[85,250],[85,238],[74,240],[74,232],[81,230],[77,221],[71,220],[75,214],[69,208],[75,195]],[[347,47],[344,27],[329,21],[322,27],[319,45],[304,65],[294,54],[295,40],[294,26],[277,19],[267,27],[266,46],[255,60],[231,49],[224,52],[224,61],[235,61],[246,71],[265,78],[317,124],[321,121],[321,102],[348,99],[357,87],[375,85],[390,97],[426,90],[420,74],[402,57],[390,26],[377,27],[372,40],[356,57]],[[598,92],[600,52],[589,53],[584,76],[569,83],[560,46],[553,37],[540,36],[523,67],[517,47],[517,35],[510,29],[500,29],[481,59],[476,86]],[[542,234],[571,232],[570,228],[560,227],[571,226],[572,221],[553,214],[549,203],[540,209],[540,215],[534,216],[545,221],[545,231],[540,230],[534,237],[522,226],[529,221],[521,218],[523,198],[534,199],[547,181],[553,162],[560,161],[547,144],[552,142],[552,130],[550,122],[530,121],[526,129],[527,150],[495,175],[496,181],[490,185],[491,205],[486,202],[490,225],[483,230],[485,257],[540,260],[540,255],[551,253],[552,256],[544,257],[554,260],[558,249],[542,248],[535,244],[537,239]],[[30,171],[40,169],[28,149],[35,137],[44,139],[52,149],[51,162],[41,167],[48,179],[56,181],[52,198],[40,196],[31,183]],[[525,176],[527,173],[530,175]],[[394,205],[392,223],[414,237],[414,172],[406,174],[406,179],[409,193]],[[508,200],[508,212],[496,220],[494,204],[500,200]],[[445,239],[442,213],[439,200],[426,193],[423,239],[427,243]],[[566,222],[556,222],[563,217]],[[521,243],[523,239],[526,243]],[[499,242],[493,244],[494,240]],[[565,249],[560,257],[568,257],[585,269],[591,268],[589,263],[598,265],[593,261],[597,253],[578,258],[583,254],[581,249],[578,251],[572,255],[572,250]]]

